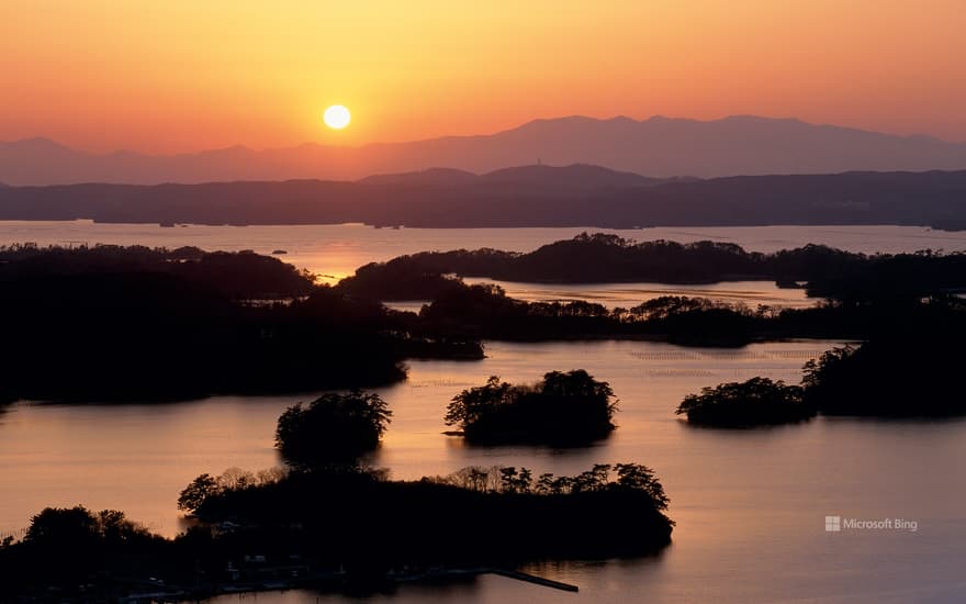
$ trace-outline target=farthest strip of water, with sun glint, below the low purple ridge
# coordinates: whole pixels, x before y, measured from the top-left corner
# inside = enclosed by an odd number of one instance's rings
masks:
[[[755,251],[775,251],[808,243],[825,244],[866,254],[919,249],[966,250],[966,231],[932,231],[914,226],[754,226],[641,228],[372,228],[361,224],[299,226],[187,226],[164,228],[149,224],[0,221],[0,244],[34,242],[38,245],[115,244],[203,249],[254,249],[307,268],[325,280],[352,275],[356,268],[417,251],[492,247],[530,251],[581,232],[614,233],[637,241],[710,239],[733,243]]]

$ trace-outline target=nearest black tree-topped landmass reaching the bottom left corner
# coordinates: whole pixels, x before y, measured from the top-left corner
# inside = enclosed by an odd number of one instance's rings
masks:
[[[201,523],[175,539],[120,512],[44,510],[22,541],[0,547],[3,597],[199,599],[267,583],[372,592],[434,569],[653,555],[674,524],[661,483],[634,463],[537,480],[516,468],[415,482],[347,469],[234,472],[194,503]]]

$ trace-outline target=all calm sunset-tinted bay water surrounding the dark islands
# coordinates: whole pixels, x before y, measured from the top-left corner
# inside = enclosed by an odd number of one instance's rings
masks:
[[[91,223],[0,223],[0,243],[33,241],[198,245],[271,251],[315,272],[341,276],[367,261],[420,249],[527,250],[581,230],[416,231],[363,226],[187,227]],[[863,251],[966,248],[966,234],[905,227],[645,230],[624,236],[714,238],[772,250],[807,242]],[[617,304],[648,284],[540,290],[530,299],[585,295]],[[772,295],[748,284],[728,295]],[[627,292],[630,293],[627,293]],[[520,293],[521,292],[521,293]],[[800,292],[791,292],[798,294]],[[754,302],[755,304],[757,302]],[[791,303],[795,303],[794,301]],[[678,525],[660,557],[568,562],[530,570],[576,583],[580,594],[502,578],[445,589],[407,586],[374,602],[959,602],[966,597],[966,422],[819,418],[764,430],[694,429],[673,414],[681,399],[722,381],[767,376],[796,381],[801,365],[831,342],[771,343],[740,350],[658,343],[487,344],[483,361],[411,363],[409,380],[382,390],[395,415],[372,463],[395,478],[447,473],[467,465],[526,466],[574,473],[595,462],[653,467]],[[473,448],[441,434],[449,399],[498,374],[533,381],[582,367],[609,381],[621,400],[618,430],[594,447]],[[217,396],[166,405],[18,403],[0,411],[0,533],[15,532],[47,505],[121,508],[166,535],[181,529],[175,501],[202,472],[278,463],[278,415],[305,396]],[[387,511],[391,512],[391,511]],[[824,517],[902,518],[918,530],[827,533]],[[405,518],[394,518],[405,522]],[[619,530],[619,518],[604,529]],[[247,597],[255,597],[249,595]],[[223,602],[238,596],[222,599]],[[289,592],[263,602],[347,602]]]

